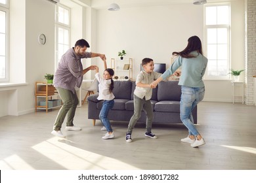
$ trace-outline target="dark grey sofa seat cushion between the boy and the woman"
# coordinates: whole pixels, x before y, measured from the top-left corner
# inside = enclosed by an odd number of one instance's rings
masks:
[[[159,101],[155,104],[157,112],[180,112],[180,101]]]

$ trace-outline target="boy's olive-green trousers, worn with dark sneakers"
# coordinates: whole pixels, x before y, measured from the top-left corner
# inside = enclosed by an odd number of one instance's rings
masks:
[[[145,98],[140,99],[136,95],[133,95],[133,100],[134,100],[134,113],[129,122],[127,133],[131,134],[133,132],[133,128],[135,127],[135,124],[140,118],[142,108],[146,113],[146,133],[151,132],[154,114],[153,114],[150,100],[146,101]]]

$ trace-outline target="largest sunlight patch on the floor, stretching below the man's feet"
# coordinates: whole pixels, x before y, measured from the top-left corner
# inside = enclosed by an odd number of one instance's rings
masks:
[[[58,137],[53,137],[32,148],[65,169],[138,169],[117,159],[77,148],[75,144],[72,146],[70,141],[66,144],[58,140]]]

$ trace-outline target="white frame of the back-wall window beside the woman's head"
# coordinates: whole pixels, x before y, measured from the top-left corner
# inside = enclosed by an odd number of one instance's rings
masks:
[[[228,6],[229,12],[228,12],[228,18],[229,18],[229,24],[214,24],[214,25],[206,25],[206,8],[207,7],[223,7],[223,6]],[[207,29],[220,29],[224,28],[227,29],[227,58],[226,58],[226,65],[227,65],[227,72],[226,75],[220,76],[209,76],[208,75],[208,70],[206,69],[205,75],[203,78],[205,80],[230,80],[230,75],[228,75],[228,71],[230,71],[231,68],[231,6],[230,3],[212,3],[212,4],[207,4],[204,5],[203,8],[203,25],[204,25],[204,48],[205,48],[205,56],[207,57],[207,46],[208,46],[208,41],[207,41]],[[218,44],[217,44],[218,45]],[[218,52],[217,52],[218,55]],[[220,60],[217,58],[217,61]],[[209,58],[208,58],[208,63],[209,63]],[[207,65],[207,68],[209,67],[209,64]],[[218,70],[217,70],[218,71]]]

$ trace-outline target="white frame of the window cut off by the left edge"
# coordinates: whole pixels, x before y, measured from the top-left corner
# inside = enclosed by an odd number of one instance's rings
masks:
[[[9,82],[9,0],[7,4],[0,3],[0,10],[5,12],[5,78],[0,78],[0,82]]]

